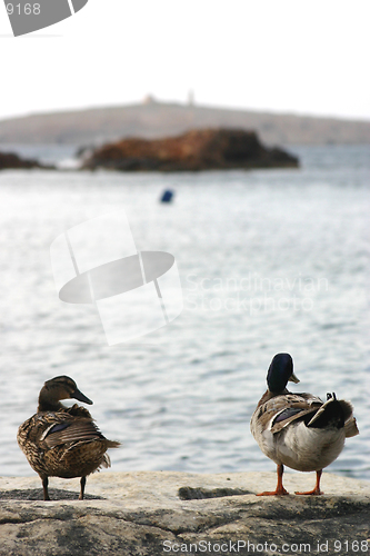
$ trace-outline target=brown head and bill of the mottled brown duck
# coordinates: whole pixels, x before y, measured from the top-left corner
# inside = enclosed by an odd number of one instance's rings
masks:
[[[39,396],[38,411],[53,411],[63,406],[61,399],[74,398],[84,404],[91,405],[91,399],[87,398],[77,387],[74,380],[67,376],[60,376],[47,380]]]

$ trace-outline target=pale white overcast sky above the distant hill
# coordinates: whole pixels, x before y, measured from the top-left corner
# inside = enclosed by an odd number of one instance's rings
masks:
[[[369,21],[369,0],[89,0],[14,38],[0,4],[0,118],[191,90],[203,106],[370,120]]]

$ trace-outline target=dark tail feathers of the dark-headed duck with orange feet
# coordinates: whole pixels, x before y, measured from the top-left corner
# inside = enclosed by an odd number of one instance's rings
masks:
[[[311,428],[343,428],[354,436],[353,425],[351,421],[354,420],[352,417],[352,406],[349,401],[344,399],[338,400],[336,395],[328,396],[328,400],[317,410],[311,420],[307,424]],[[346,428],[347,427],[347,428]],[[356,421],[354,421],[356,427]],[[356,427],[357,429],[357,427]]]

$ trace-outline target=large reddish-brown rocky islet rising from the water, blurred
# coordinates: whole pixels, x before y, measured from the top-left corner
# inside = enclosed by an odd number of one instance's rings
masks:
[[[200,129],[163,139],[122,139],[96,149],[84,169],[121,171],[200,171],[297,168],[297,157],[264,147],[254,131]]]

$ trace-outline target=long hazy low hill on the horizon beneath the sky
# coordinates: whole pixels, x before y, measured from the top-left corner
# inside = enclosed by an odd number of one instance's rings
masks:
[[[267,145],[370,143],[370,121],[149,101],[0,120],[1,143],[97,146],[128,137],[160,138],[200,128],[256,130]]]

